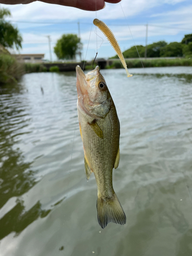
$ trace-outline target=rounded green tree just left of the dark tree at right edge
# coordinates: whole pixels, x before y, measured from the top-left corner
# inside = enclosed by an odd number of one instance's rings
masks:
[[[183,56],[181,42],[170,42],[170,44],[160,49],[161,57],[181,57]]]

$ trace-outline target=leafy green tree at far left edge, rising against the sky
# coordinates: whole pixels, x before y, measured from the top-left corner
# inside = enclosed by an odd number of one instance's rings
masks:
[[[11,13],[8,9],[0,9],[0,44],[4,47],[22,48],[22,36],[17,28],[5,20],[5,17],[10,17]]]

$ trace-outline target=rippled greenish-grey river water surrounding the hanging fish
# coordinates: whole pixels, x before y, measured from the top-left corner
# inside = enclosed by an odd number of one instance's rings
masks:
[[[1,256],[192,255],[192,68],[101,73],[121,125],[126,224],[97,222],[75,72],[26,74],[0,87]]]

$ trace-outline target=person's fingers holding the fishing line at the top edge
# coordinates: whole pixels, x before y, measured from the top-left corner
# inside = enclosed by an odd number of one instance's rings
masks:
[[[37,0],[0,0],[1,4],[16,5],[16,4],[30,4]],[[121,0],[40,0],[48,4],[71,6],[86,11],[98,11],[105,7],[106,3],[117,4]]]

